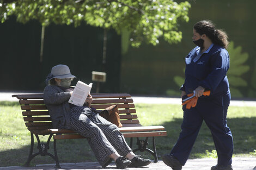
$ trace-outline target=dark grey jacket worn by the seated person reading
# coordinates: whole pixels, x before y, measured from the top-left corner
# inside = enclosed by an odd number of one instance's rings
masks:
[[[44,102],[52,118],[53,128],[70,129],[70,92],[58,86],[48,85],[44,90]]]

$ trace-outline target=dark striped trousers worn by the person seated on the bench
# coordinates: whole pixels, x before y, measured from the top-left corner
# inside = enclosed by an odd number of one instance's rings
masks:
[[[88,138],[88,143],[101,166],[111,162],[109,155],[112,153],[117,152],[125,156],[132,152],[117,125],[108,122],[93,109],[76,106],[70,111],[71,129]]]

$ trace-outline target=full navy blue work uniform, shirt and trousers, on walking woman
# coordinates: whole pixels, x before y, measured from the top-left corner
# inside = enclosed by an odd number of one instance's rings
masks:
[[[185,165],[200,127],[205,121],[211,130],[218,155],[218,165],[230,165],[233,155],[233,136],[227,125],[227,111],[230,102],[227,71],[229,54],[221,46],[212,44],[204,53],[200,47],[192,49],[185,58],[185,83],[182,91],[192,93],[198,86],[210,90],[210,96],[198,98],[196,107],[184,111],[181,133],[170,155]]]

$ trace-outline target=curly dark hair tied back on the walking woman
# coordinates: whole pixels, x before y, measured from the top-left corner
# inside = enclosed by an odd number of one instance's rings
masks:
[[[194,24],[194,29],[200,35],[205,34],[208,36],[212,43],[228,48],[228,35],[221,29],[216,29],[212,21],[203,20]]]

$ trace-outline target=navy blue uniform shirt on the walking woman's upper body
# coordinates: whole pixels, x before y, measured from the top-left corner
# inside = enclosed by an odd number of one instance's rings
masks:
[[[185,58],[185,83],[182,91],[192,93],[198,86],[210,90],[210,96],[229,92],[226,73],[229,69],[229,54],[223,47],[212,44],[204,53],[200,47],[192,49]]]

